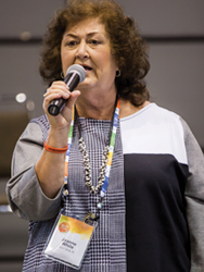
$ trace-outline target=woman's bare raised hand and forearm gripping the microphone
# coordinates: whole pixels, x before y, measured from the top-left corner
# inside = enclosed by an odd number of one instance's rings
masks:
[[[43,100],[43,110],[50,123],[47,145],[53,148],[64,148],[67,146],[68,133],[73,116],[73,106],[79,90],[69,92],[64,82],[53,82],[48,88]],[[53,99],[68,99],[65,107],[56,116],[48,112],[48,106]],[[43,149],[39,161],[36,163],[36,174],[44,195],[54,198],[64,184],[64,161],[65,153],[53,153]]]

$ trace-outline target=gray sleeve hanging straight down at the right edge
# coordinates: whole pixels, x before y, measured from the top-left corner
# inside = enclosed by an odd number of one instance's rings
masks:
[[[186,188],[187,220],[191,240],[191,272],[204,271],[204,157],[187,123],[181,120],[189,164]]]

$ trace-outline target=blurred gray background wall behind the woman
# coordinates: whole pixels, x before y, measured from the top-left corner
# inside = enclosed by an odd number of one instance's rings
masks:
[[[204,147],[204,1],[120,0],[150,48],[151,100],[180,114]],[[0,271],[22,271],[26,221],[8,210],[4,194],[15,141],[42,114],[38,74],[47,23],[65,0],[0,1]],[[20,95],[23,94],[23,95]]]

